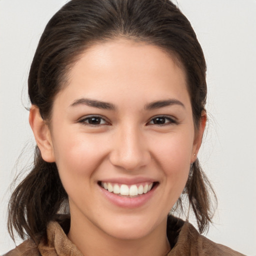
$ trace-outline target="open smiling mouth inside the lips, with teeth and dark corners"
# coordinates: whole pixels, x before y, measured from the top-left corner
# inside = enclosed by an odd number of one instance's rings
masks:
[[[98,181],[98,185],[107,190],[122,197],[138,197],[148,193],[158,182],[142,182],[137,184],[117,184],[112,182]]]

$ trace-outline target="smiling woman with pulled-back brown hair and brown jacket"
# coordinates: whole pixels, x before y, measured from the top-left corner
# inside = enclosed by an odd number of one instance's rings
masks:
[[[211,220],[205,70],[169,1],[63,6],[30,68],[35,162],[8,222],[28,239],[7,255],[241,255],[168,216],[187,196],[200,233]]]

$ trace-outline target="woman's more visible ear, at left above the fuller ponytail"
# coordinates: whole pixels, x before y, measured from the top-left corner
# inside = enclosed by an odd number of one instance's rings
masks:
[[[46,162],[54,162],[51,135],[48,125],[42,119],[37,106],[32,105],[29,110],[29,124],[33,130],[34,138],[40,149],[42,159]]]

